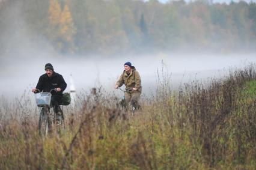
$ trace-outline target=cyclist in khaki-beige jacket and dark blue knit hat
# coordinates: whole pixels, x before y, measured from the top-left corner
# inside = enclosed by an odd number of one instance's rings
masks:
[[[126,86],[126,93],[124,93],[124,100],[126,100],[126,106],[135,106],[135,109],[139,107],[139,98],[141,97],[141,77],[139,72],[130,62],[124,63],[124,71],[115,83],[115,88],[118,89],[122,85]]]

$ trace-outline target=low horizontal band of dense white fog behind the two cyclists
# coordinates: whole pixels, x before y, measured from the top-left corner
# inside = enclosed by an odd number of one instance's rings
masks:
[[[38,52],[40,53],[40,52]],[[103,59],[102,59],[103,58]],[[139,71],[142,79],[144,94],[154,92],[158,74],[168,73],[171,87],[193,80],[206,80],[207,77],[224,77],[231,68],[243,68],[250,62],[256,62],[255,54],[228,55],[189,55],[166,54],[144,56],[120,56],[120,58],[91,57],[88,59],[72,56],[13,58],[1,59],[0,94],[5,97],[20,96],[24,91],[30,91],[37,84],[38,78],[44,74],[44,64],[50,62],[57,73],[62,74],[70,88],[70,74],[72,74],[76,91],[89,91],[93,87],[102,86],[106,91],[121,91],[114,89],[118,77],[123,71],[126,61]]]

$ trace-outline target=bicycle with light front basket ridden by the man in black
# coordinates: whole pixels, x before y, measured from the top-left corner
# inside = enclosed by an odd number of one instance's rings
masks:
[[[40,90],[35,91],[35,101],[37,106],[41,108],[39,120],[38,120],[38,130],[40,135],[47,136],[52,132],[53,127],[56,127],[58,132],[64,130],[64,114],[61,107],[58,105],[58,112],[55,114],[50,111],[50,99],[52,97],[52,91],[50,92],[40,92]]]

